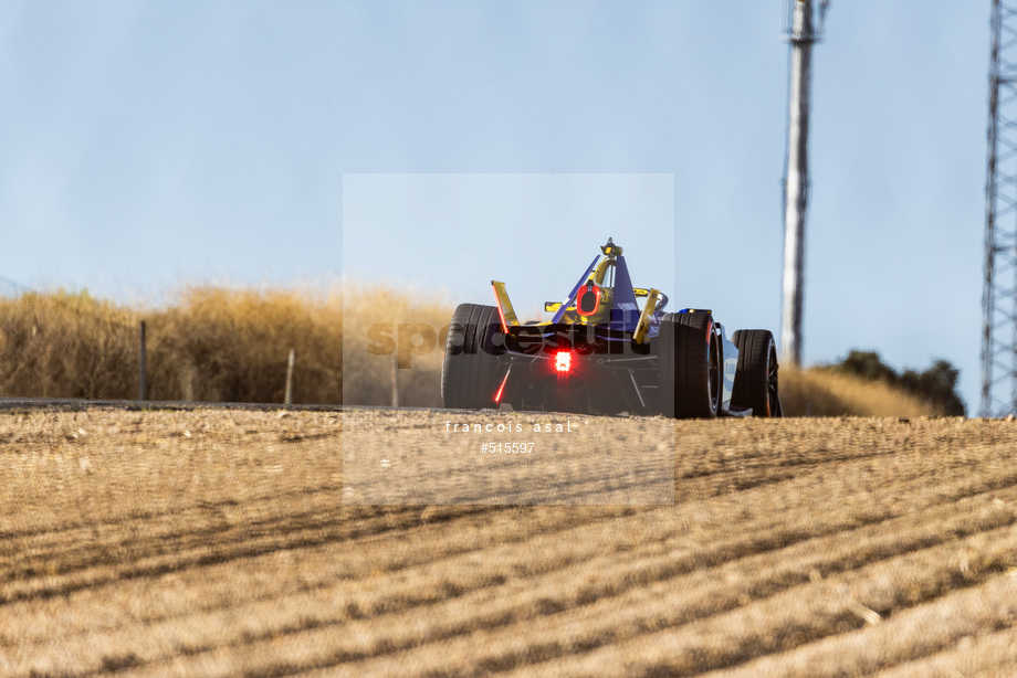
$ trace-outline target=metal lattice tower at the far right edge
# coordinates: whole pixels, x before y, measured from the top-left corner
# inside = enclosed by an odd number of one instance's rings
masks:
[[[993,0],[982,416],[1017,414],[1017,8]]]

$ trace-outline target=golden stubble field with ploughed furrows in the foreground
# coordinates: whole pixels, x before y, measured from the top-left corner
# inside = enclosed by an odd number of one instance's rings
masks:
[[[1017,424],[567,419],[570,506],[380,505],[344,452],[472,491],[445,422],[512,415],[0,412],[0,675],[1017,674]]]

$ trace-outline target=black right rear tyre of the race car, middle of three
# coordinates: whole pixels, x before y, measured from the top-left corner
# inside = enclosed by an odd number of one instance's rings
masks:
[[[709,312],[665,314],[658,341],[661,414],[714,417],[721,399],[721,346]]]

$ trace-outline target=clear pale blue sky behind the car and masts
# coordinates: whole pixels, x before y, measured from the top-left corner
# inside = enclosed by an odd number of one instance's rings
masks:
[[[815,54],[806,362],[851,348],[898,368],[942,357],[969,412],[989,11],[835,0]],[[0,276],[125,299],[321,280],[363,258],[344,251],[359,242],[344,233],[344,174],[673,176],[673,250],[619,242],[673,265],[678,306],[776,329],[780,29],[780,0],[8,1]],[[576,274],[604,236],[576,223],[584,195],[537,201],[569,225],[533,243],[576,243],[563,256]],[[606,195],[598,214],[631,204]],[[378,277],[440,242],[430,220],[370,255]],[[493,268],[505,234],[475,237]],[[423,277],[472,296],[462,273],[438,259]],[[510,292],[526,284],[511,273]]]

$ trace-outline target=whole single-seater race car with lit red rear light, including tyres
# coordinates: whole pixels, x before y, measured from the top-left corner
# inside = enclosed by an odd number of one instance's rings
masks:
[[[521,324],[505,284],[491,286],[493,306],[461,304],[452,315],[445,407],[783,416],[773,333],[728,338],[710,310],[665,312],[668,296],[632,286],[611,239],[562,301],[544,305],[549,321]]]

